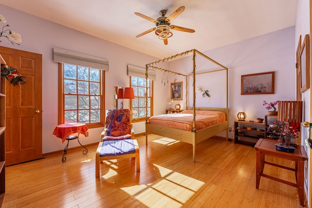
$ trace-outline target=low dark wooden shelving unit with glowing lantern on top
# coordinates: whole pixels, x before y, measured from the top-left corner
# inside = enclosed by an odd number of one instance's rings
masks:
[[[234,143],[255,145],[259,138],[264,138],[264,123],[234,121]]]

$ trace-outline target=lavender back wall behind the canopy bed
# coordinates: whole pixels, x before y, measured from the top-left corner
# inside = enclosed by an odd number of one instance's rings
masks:
[[[267,102],[295,100],[294,51],[294,27],[289,27],[204,52],[206,56],[211,57],[229,69],[229,127],[234,128],[234,120],[237,120],[236,115],[241,111],[247,114],[247,120],[255,121],[257,117],[264,118],[268,111],[262,106],[263,100]],[[203,64],[202,60],[199,60],[198,64],[196,63],[196,68],[199,71],[216,69],[213,65],[209,67]],[[185,58],[172,62],[170,63],[170,68],[182,69],[184,70],[182,73],[190,74],[193,69],[192,59]],[[275,72],[274,94],[240,95],[242,75],[272,71]],[[225,78],[225,76],[223,77]],[[215,88],[214,83],[215,77],[212,79],[206,77],[205,81],[201,83],[196,82],[196,93],[198,94],[196,106],[224,107],[224,103],[220,102],[219,94],[224,95],[226,91],[222,88]],[[201,94],[197,90],[199,85],[209,89],[212,96],[209,98],[200,97],[199,95]],[[224,86],[224,84],[221,83],[221,86]],[[199,102],[197,103],[197,101]]]

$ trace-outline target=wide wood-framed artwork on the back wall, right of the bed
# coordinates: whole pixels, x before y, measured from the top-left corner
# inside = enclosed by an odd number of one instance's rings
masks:
[[[274,94],[274,72],[241,76],[240,95]]]

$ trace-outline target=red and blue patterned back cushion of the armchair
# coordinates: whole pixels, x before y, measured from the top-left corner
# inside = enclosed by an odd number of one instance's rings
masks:
[[[123,136],[131,134],[130,111],[128,109],[106,110],[106,136]]]

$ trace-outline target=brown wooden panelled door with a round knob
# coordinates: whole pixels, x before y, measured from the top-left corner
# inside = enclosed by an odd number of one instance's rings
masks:
[[[8,66],[16,68],[26,83],[6,81],[5,164],[42,157],[42,55],[0,47]]]

